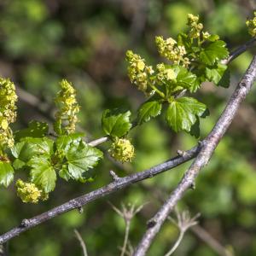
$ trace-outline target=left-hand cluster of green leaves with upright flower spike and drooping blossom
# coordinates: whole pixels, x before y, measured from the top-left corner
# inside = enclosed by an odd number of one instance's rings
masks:
[[[74,95],[72,85],[61,81],[57,99],[62,102],[56,115],[55,139],[49,137],[48,124],[32,121],[28,128],[15,132],[15,144],[5,147],[1,154],[0,183],[5,187],[14,180],[15,171],[29,173],[29,183],[20,179],[16,182],[17,194],[24,202],[47,199],[55,189],[57,174],[82,183],[94,177],[89,170],[102,158],[102,151],[84,143],[83,133],[74,132],[77,119],[73,115],[79,108]]]

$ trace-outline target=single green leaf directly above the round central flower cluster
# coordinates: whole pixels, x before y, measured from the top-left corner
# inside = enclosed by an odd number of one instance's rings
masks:
[[[131,129],[130,116],[130,111],[105,110],[102,114],[103,131],[111,137],[123,137]]]

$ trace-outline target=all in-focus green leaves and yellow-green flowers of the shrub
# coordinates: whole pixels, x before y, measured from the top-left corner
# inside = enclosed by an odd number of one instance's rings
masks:
[[[256,13],[254,13],[256,15]],[[256,17],[247,20],[248,32],[256,36]],[[131,121],[131,111],[106,109],[102,114],[102,131],[112,142],[108,153],[120,162],[131,161],[135,149],[127,138],[129,131],[150,119],[165,114],[172,131],[186,131],[199,137],[200,118],[208,114],[207,106],[193,94],[204,82],[228,87],[230,75],[224,59],[229,55],[218,35],[203,31],[199,17],[188,15],[189,30],[177,38],[155,38],[162,58],[152,67],[131,50],[126,52],[128,76],[146,101]],[[92,181],[89,172],[102,159],[100,149],[84,142],[84,134],[76,132],[79,104],[73,85],[63,79],[55,97],[57,111],[53,127],[32,120],[26,129],[12,131],[16,119],[15,84],[0,79],[0,184],[8,187],[15,174],[24,172],[27,181],[15,182],[17,195],[23,202],[46,200],[55,189],[56,178]],[[184,96],[185,94],[189,96]],[[165,110],[164,107],[166,106]],[[54,136],[49,135],[49,129]],[[51,132],[52,133],[52,132]]]

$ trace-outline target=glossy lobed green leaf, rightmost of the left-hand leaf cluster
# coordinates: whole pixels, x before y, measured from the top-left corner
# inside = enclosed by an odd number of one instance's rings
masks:
[[[102,155],[101,150],[90,147],[84,142],[72,143],[66,154],[70,176],[76,180],[83,178],[83,173],[96,166]]]

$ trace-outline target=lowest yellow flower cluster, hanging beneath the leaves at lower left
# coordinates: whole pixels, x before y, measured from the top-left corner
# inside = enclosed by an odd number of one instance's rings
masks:
[[[42,190],[38,189],[34,183],[25,183],[21,179],[18,179],[16,187],[17,195],[25,203],[38,203],[38,200],[42,196]]]

